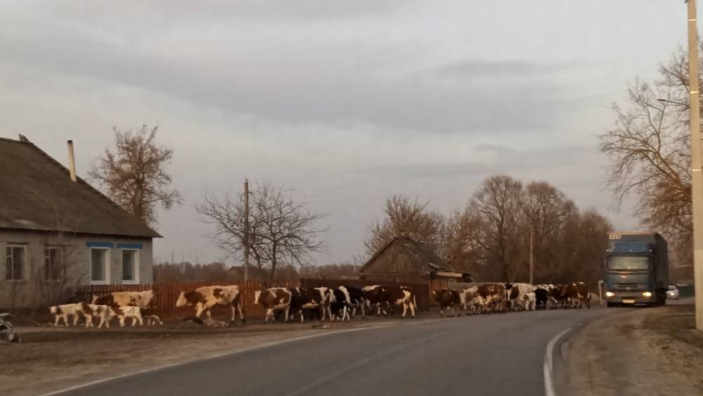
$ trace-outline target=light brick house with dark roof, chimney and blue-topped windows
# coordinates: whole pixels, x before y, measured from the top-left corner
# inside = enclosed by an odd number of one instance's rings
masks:
[[[160,235],[20,135],[0,138],[0,308],[36,307],[81,285],[151,283]]]

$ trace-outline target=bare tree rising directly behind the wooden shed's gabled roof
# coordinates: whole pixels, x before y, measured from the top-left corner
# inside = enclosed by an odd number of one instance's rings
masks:
[[[370,226],[366,238],[366,255],[382,248],[394,236],[408,236],[440,250],[444,243],[444,218],[439,212],[427,210],[427,202],[411,200],[406,196],[391,196],[386,200],[383,222]]]

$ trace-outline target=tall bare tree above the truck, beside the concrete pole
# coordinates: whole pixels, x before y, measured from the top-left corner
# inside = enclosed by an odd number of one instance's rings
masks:
[[[703,46],[702,46],[703,48]],[[690,262],[691,187],[688,123],[688,56],[676,51],[659,67],[652,83],[638,79],[628,89],[626,106],[613,105],[617,121],[600,136],[600,151],[610,159],[609,185],[618,202],[638,197],[643,226],[662,232],[678,262]],[[703,89],[699,87],[699,89]]]

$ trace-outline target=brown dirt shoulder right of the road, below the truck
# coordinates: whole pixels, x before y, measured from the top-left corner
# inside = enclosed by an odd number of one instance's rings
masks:
[[[703,395],[703,333],[692,305],[633,309],[571,339],[574,396]]]

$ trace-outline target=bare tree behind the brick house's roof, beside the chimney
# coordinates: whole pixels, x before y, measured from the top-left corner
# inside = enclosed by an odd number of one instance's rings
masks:
[[[89,172],[117,205],[151,225],[157,222],[157,205],[168,210],[181,203],[168,172],[173,151],[157,144],[157,129],[143,125],[138,132],[121,132],[113,128],[115,146],[105,149]]]

